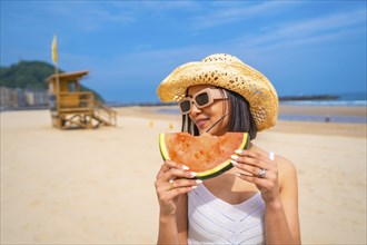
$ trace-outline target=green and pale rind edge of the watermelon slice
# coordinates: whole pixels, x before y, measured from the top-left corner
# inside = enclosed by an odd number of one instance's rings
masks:
[[[165,137],[166,137],[166,133],[159,134],[159,149],[160,149],[160,154],[161,154],[162,158],[165,160],[170,160],[168,149],[167,149],[166,144],[165,144]],[[238,148],[239,149],[245,149],[247,147],[248,143],[249,143],[249,135],[247,133],[244,133],[244,140],[242,140],[241,145]],[[206,170],[206,171],[197,173],[195,178],[201,179],[201,180],[212,178],[212,177],[221,175],[222,173],[231,169],[232,167],[234,167],[234,165],[230,163],[230,159],[228,159],[228,160],[219,164],[215,168],[211,168],[211,169]]]

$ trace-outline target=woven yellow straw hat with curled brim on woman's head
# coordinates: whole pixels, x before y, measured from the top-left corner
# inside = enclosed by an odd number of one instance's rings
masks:
[[[195,85],[218,86],[245,97],[258,131],[277,121],[277,91],[262,74],[234,56],[217,53],[200,62],[185,63],[161,81],[157,94],[163,102],[180,101],[188,87]]]

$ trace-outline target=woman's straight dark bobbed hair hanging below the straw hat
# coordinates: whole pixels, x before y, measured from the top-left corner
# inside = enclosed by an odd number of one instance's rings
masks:
[[[237,92],[224,89],[229,99],[229,131],[247,131],[255,139],[257,128],[248,101]],[[181,131],[199,135],[199,129],[188,115],[182,115]]]

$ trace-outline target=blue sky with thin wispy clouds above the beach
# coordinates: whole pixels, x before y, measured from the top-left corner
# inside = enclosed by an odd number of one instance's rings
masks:
[[[157,102],[176,67],[230,53],[279,96],[366,92],[366,1],[0,0],[0,65],[89,70],[107,101]]]

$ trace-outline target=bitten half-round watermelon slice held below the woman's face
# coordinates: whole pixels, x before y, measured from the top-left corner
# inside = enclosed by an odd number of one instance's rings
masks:
[[[230,169],[230,155],[236,149],[245,149],[248,143],[247,133],[227,133],[222,136],[192,136],[188,133],[159,135],[162,158],[188,166],[199,179],[208,179]]]

